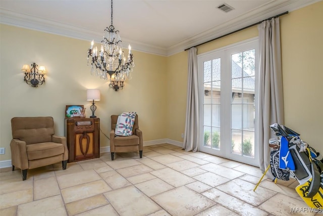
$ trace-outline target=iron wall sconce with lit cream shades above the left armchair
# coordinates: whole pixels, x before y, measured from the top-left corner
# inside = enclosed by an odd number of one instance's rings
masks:
[[[29,68],[29,65],[23,65],[21,68],[21,70],[25,72],[24,81],[26,81],[27,84],[31,84],[32,87],[38,87],[38,85],[45,82],[44,76],[46,69],[44,66],[39,66],[38,69],[36,63],[31,64],[31,66],[31,69]]]

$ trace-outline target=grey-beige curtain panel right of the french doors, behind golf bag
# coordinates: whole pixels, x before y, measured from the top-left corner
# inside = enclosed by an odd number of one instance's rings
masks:
[[[279,18],[263,21],[259,31],[258,145],[262,172],[270,162],[268,140],[274,138],[269,126],[284,125],[284,98]],[[268,177],[272,177],[267,172]]]

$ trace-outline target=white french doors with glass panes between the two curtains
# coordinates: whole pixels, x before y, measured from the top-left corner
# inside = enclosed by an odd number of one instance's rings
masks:
[[[258,166],[257,40],[198,56],[199,150]]]

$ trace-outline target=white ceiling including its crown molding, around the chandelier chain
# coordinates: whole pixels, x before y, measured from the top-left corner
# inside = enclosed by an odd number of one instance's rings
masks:
[[[113,25],[123,46],[169,56],[317,0],[115,0]],[[234,10],[225,13],[226,3]],[[99,42],[111,24],[111,1],[1,0],[0,22]],[[284,15],[288,16],[288,15]]]

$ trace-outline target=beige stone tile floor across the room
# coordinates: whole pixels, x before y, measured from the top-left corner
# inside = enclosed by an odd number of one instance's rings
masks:
[[[264,178],[259,168],[178,146],[21,171],[0,172],[0,215],[320,215],[308,212],[298,182]],[[297,208],[298,212],[292,212]]]

